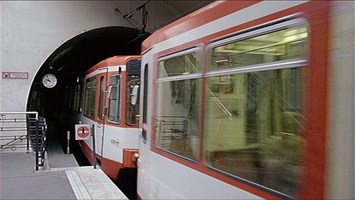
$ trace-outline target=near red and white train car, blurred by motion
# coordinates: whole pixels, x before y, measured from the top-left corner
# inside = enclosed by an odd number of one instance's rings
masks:
[[[355,198],[354,2],[215,1],[141,56],[139,199]]]

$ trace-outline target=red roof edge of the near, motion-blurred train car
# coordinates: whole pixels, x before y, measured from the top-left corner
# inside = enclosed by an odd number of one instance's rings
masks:
[[[260,1],[215,1],[153,32],[142,43],[142,52],[155,44],[217,20]]]

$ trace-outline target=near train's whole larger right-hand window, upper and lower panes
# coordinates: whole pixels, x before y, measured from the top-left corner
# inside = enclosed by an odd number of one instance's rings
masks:
[[[204,159],[219,171],[293,196],[304,150],[307,28],[248,34],[211,47]]]

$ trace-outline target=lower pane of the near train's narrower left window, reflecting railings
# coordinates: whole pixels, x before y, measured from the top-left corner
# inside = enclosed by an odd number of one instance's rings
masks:
[[[199,79],[161,82],[157,85],[156,146],[196,160],[199,150]]]

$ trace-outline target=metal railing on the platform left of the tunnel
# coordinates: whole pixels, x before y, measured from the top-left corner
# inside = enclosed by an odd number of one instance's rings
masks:
[[[0,153],[35,153],[35,168],[44,166],[47,123],[37,112],[0,112]]]

